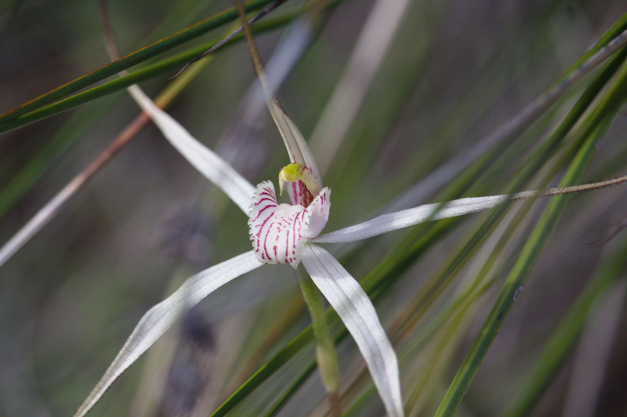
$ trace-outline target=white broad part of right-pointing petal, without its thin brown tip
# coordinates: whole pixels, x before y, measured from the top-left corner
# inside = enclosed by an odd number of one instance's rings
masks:
[[[480,210],[492,209],[492,207],[507,201],[508,198],[510,198],[508,195],[492,195],[490,197],[460,198],[443,205],[441,203],[420,205],[413,209],[382,214],[367,222],[335,230],[335,232],[324,234],[313,240],[317,243],[354,242],[355,240],[366,239],[426,222],[429,219],[440,220],[446,219],[446,217],[455,217]],[[438,207],[441,207],[440,210],[438,210]]]

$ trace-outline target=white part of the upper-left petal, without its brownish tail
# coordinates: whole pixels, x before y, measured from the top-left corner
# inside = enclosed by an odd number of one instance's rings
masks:
[[[179,122],[157,107],[137,85],[130,86],[127,90],[172,146],[209,181],[222,188],[226,195],[248,214],[255,187],[228,162],[194,139]]]

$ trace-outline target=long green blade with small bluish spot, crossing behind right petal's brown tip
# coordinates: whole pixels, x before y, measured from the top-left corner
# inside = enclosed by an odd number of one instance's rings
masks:
[[[560,185],[567,186],[571,183],[581,181],[586,168],[594,156],[596,142],[602,138],[608,130],[626,94],[627,65],[623,65],[614,85],[611,87],[610,91],[608,91],[607,95],[604,96],[603,101],[599,104],[599,107],[594,113],[594,116],[601,118],[601,121],[593,123],[589,127],[589,129],[593,129],[591,133],[588,134],[586,131],[586,142],[567,169]],[[547,208],[544,210],[532,234],[529,239],[527,239],[519,259],[503,284],[498,294],[497,301],[492,307],[492,311],[490,311],[470,351],[451,382],[448,391],[446,391],[440,407],[436,411],[436,417],[450,417],[455,414],[457,407],[461,403],[461,399],[466,393],[468,386],[470,386],[475,373],[477,373],[477,369],[482,363],[483,358],[485,358],[485,354],[487,354],[492,341],[496,337],[503,319],[505,319],[505,316],[507,316],[507,313],[514,305],[514,294],[527,280],[540,252],[542,252],[542,249],[544,249],[544,246],[549,240],[552,230],[556,226],[562,212],[566,209],[569,200],[569,195],[558,195],[552,198],[549,205],[547,205]]]

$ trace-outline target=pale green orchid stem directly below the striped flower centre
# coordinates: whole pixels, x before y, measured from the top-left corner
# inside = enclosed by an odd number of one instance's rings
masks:
[[[329,394],[331,415],[340,416],[339,403],[339,371],[337,370],[337,354],[335,344],[327,327],[325,310],[322,306],[322,298],[319,289],[314,285],[314,281],[309,277],[302,264],[296,269],[300,291],[303,294],[309,314],[312,317],[312,327],[314,328],[315,352],[322,376],[322,383]]]

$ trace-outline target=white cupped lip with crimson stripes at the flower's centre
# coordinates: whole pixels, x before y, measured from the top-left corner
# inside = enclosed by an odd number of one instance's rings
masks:
[[[270,181],[257,185],[248,225],[259,262],[297,267],[307,238],[320,234],[329,220],[330,193],[324,188],[305,209],[302,205],[279,204]]]

